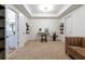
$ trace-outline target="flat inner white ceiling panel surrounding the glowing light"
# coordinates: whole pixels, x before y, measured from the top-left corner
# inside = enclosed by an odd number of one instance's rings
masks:
[[[57,13],[62,7],[63,4],[55,4],[53,5],[53,10],[51,12],[42,12],[40,9],[39,9],[39,5],[40,4],[28,4],[28,9],[31,11],[32,14],[34,13]]]

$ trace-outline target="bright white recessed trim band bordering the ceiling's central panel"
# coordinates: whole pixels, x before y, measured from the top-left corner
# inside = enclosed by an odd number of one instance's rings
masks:
[[[28,13],[30,14],[31,17],[60,17],[62,16],[63,13],[66,13],[67,11],[69,11],[72,7],[75,7],[73,4],[63,4],[63,7],[56,13],[32,13],[31,10],[25,4],[24,5],[26,8],[26,10],[28,11]]]

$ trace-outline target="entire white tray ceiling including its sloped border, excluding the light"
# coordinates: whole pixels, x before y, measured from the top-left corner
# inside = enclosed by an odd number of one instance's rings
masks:
[[[52,11],[42,12],[39,5],[40,4],[16,4],[15,7],[28,17],[61,17],[81,7],[80,4],[53,4]]]

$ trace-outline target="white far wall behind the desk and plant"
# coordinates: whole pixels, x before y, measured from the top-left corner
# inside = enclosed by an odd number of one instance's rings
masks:
[[[28,24],[30,25],[29,40],[36,40],[39,28],[45,29],[48,28],[49,34],[52,35],[55,30],[59,34],[59,24],[58,18],[29,18]]]

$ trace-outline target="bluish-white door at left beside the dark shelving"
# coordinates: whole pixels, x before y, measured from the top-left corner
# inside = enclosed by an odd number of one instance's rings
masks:
[[[10,8],[5,9],[5,40],[8,53],[17,49],[17,13]]]

